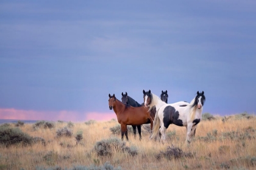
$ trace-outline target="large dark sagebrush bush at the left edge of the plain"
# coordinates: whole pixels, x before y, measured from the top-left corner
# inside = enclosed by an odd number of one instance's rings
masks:
[[[0,144],[3,146],[10,146],[13,144],[22,144],[26,146],[32,144],[33,138],[28,134],[22,132],[18,127],[0,127]]]

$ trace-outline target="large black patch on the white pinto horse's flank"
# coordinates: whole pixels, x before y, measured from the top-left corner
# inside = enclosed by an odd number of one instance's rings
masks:
[[[169,124],[176,124],[177,126],[183,126],[183,121],[179,119],[179,111],[172,106],[166,106],[163,110],[163,124],[167,129]]]

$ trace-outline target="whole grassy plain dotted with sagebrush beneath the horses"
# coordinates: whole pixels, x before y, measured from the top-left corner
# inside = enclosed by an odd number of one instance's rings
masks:
[[[120,129],[116,121],[45,122],[0,125],[0,169],[256,169],[254,115],[201,121],[189,146],[186,128],[173,124],[163,144],[149,140],[144,127],[141,141],[130,126],[129,141],[121,141],[121,132],[110,130]]]

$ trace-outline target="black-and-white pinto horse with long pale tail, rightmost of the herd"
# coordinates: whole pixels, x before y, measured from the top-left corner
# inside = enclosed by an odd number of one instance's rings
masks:
[[[187,128],[185,143],[189,144],[191,139],[196,135],[197,124],[202,119],[204,103],[204,91],[202,93],[197,91],[196,97],[190,103],[182,104],[177,102],[160,107],[155,114],[151,138],[157,137],[160,131],[162,134],[160,141],[164,142],[166,129],[169,127],[169,124],[176,124],[177,126],[185,126]]]

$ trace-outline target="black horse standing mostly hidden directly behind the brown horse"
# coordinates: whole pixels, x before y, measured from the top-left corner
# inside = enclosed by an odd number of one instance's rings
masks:
[[[129,95],[127,95],[127,92],[126,94],[123,94],[122,92],[122,103],[126,104],[127,106],[141,107],[141,104],[135,101],[133,98],[129,97]],[[133,129],[133,135],[134,137],[136,137],[136,126],[132,125],[132,129]],[[141,140],[141,126],[137,125],[137,129],[138,129],[138,134],[140,135],[140,140]]]

